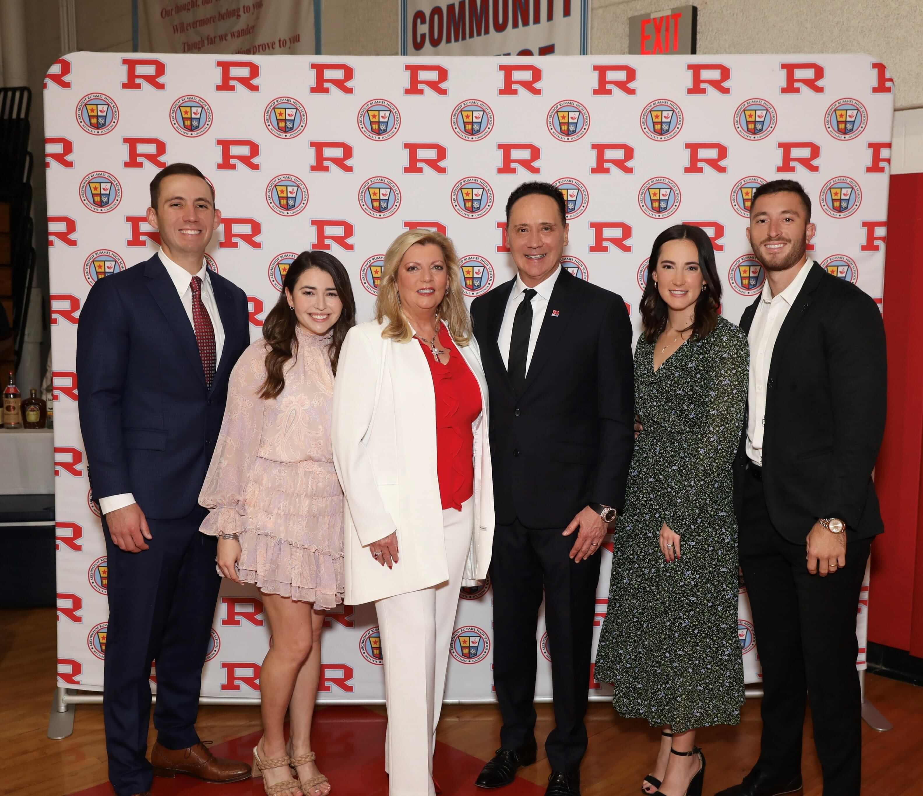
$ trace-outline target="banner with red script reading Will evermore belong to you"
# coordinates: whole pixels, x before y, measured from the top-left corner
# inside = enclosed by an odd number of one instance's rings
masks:
[[[138,0],[149,53],[311,54],[314,4],[279,0]]]

